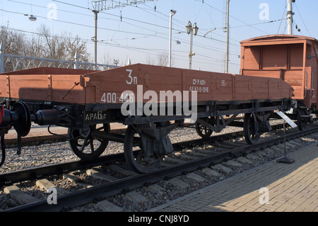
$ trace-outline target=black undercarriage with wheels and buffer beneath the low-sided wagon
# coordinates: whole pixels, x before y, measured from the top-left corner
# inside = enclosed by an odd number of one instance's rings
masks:
[[[194,125],[202,138],[210,137],[212,132],[221,132],[227,126],[242,127],[247,143],[255,144],[261,134],[271,130],[269,120],[275,118],[274,111],[287,111],[290,106],[289,98],[276,101],[206,101],[199,103]],[[237,120],[241,114],[245,115],[243,123]],[[11,127],[16,130],[20,144],[21,137],[28,135],[33,122],[69,128],[69,145],[83,161],[99,157],[109,141],[122,142],[126,162],[139,173],[153,171],[163,157],[172,152],[168,135],[175,128],[183,126],[184,120],[189,118],[184,114],[123,117],[116,105],[110,107],[99,103],[78,105],[12,99],[2,102],[1,115],[1,164],[4,164],[4,136],[8,130]],[[303,119],[298,117],[299,124],[304,124]],[[110,123],[114,122],[128,126],[125,135],[110,132]],[[18,153],[20,149],[18,145]]]

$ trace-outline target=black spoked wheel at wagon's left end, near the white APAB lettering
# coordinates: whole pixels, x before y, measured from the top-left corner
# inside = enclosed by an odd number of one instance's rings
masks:
[[[92,130],[110,131],[110,124],[90,125],[87,130],[76,130],[69,128],[69,145],[73,152],[82,160],[92,160],[100,156],[105,151],[108,140],[95,139],[90,135]]]

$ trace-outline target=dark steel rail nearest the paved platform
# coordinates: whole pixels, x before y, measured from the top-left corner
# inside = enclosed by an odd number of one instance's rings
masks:
[[[154,183],[160,180],[163,180],[170,176],[177,176],[182,174],[184,171],[192,171],[196,170],[202,166],[208,166],[213,164],[218,164],[219,162],[223,162],[224,160],[231,159],[232,157],[239,157],[243,154],[248,154],[249,152],[253,152],[256,149],[260,149],[261,147],[269,147],[273,144],[283,142],[284,139],[290,140],[295,137],[301,137],[303,135],[308,135],[314,132],[318,132],[318,126],[314,128],[293,132],[290,134],[286,134],[285,137],[277,137],[273,140],[269,140],[266,142],[261,142],[257,145],[249,145],[247,147],[239,147],[230,149],[228,152],[223,152],[221,154],[216,154],[211,157],[204,157],[201,159],[192,160],[183,164],[177,164],[175,166],[166,167],[163,169],[158,169],[149,174],[139,174],[136,176],[131,176],[125,179],[119,179],[118,181],[114,181],[111,183],[106,183],[104,185],[95,186],[93,188],[88,188],[81,191],[76,191],[74,193],[66,194],[64,196],[57,197],[57,204],[49,205],[47,200],[42,200],[37,203],[30,203],[26,205],[20,205],[16,208],[11,208],[9,210],[5,210],[6,212],[45,212],[45,211],[63,211],[68,208],[74,207],[76,205],[82,205],[92,201],[94,198],[106,198],[107,196],[112,196],[116,193],[119,193],[124,188],[131,189],[136,188],[138,186],[143,186],[145,183]],[[71,204],[70,204],[71,203]]]

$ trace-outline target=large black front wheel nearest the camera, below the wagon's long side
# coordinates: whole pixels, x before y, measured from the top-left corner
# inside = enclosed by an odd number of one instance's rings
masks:
[[[141,132],[141,127],[142,125],[128,126],[124,140],[124,156],[131,169],[146,174],[160,164],[163,154],[153,152],[151,147],[150,149],[148,147],[148,150],[146,149],[145,142],[141,142],[143,136],[146,136]]]

